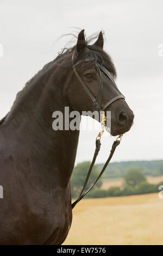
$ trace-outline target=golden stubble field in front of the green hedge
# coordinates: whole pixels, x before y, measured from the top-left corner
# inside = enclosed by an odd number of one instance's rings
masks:
[[[64,245],[163,245],[162,212],[158,193],[83,199]]]

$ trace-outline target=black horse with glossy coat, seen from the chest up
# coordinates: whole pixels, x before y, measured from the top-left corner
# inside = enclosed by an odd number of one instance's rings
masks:
[[[81,86],[72,68],[80,56],[94,58],[76,68],[91,93],[98,94],[101,64],[115,78],[111,58],[103,51],[103,35],[95,44],[85,40],[84,30],[77,45],[59,54],[18,93],[0,126],[0,243],[2,245],[60,245],[72,221],[70,178],[76,159],[78,130],[52,129],[55,110],[65,106],[82,113],[96,106]],[[104,106],[118,95],[108,79],[103,79]],[[134,114],[124,99],[106,109],[111,111],[111,134],[127,132]]]

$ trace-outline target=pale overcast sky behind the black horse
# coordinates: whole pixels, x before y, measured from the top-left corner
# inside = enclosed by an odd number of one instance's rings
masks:
[[[117,85],[135,114],[112,161],[163,159],[162,10],[162,0],[1,0],[0,118],[24,84],[71,39],[59,39],[62,34],[72,27],[84,28],[86,36],[103,30]],[[92,159],[97,132],[80,132],[76,163]],[[113,139],[103,137],[97,162],[107,159]]]

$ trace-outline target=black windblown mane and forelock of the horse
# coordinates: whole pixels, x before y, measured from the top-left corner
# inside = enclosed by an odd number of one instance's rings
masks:
[[[89,38],[86,38],[86,47],[89,49],[89,52],[80,54],[79,59],[87,58],[88,55],[89,55],[89,57],[93,57],[94,63],[99,63],[99,64],[104,65],[105,68],[110,71],[112,76],[114,78],[116,78],[116,75],[117,75],[116,69],[115,69],[114,63],[112,62],[112,59],[109,56],[109,54],[106,53],[104,50],[102,50],[102,48],[99,48],[92,44],[92,42],[98,38],[98,34],[99,33],[96,33],[96,34],[89,36]],[[76,38],[76,39],[78,38],[78,36],[76,34],[66,34],[66,35],[72,35],[73,38]],[[62,35],[62,36],[66,36],[66,35]],[[72,43],[72,40],[70,42],[68,42],[67,44],[71,44],[71,43]],[[66,68],[66,69],[68,67],[70,67],[72,54],[76,47],[76,44],[73,46],[70,46],[70,47],[67,47],[67,44],[64,48],[62,48],[61,52],[58,53],[58,56],[54,60],[52,60],[51,62],[44,65],[43,68],[39,72],[37,72],[29,81],[27,81],[25,87],[27,87],[28,84],[34,83],[37,79],[40,79],[41,77],[42,78],[44,77],[46,79],[47,75],[48,76],[51,75],[51,73],[54,71],[52,69],[54,65],[57,65],[57,66],[60,66],[61,68]],[[90,44],[92,44],[92,45],[90,45]],[[62,62],[63,59],[64,59],[64,62]],[[90,62],[87,62],[86,65],[89,66]],[[91,63],[91,65],[92,65],[92,63]],[[24,90],[24,88],[20,92],[17,93],[16,99],[21,94],[21,92]],[[5,115],[5,117],[0,120],[0,125],[4,123],[5,119],[7,118],[7,115]]]

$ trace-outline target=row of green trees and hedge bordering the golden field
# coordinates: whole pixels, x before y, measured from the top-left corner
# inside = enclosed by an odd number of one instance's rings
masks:
[[[82,191],[89,166],[90,162],[82,162],[77,164],[77,166],[74,168],[71,178],[72,198],[77,198],[79,193]],[[86,189],[93,184],[98,174],[99,170],[97,166],[95,166],[92,170],[92,174]],[[127,170],[126,175],[124,175],[124,182],[121,187],[112,186],[108,190],[103,190],[101,189],[101,179],[97,182],[95,188],[93,188],[86,195],[86,198],[118,197],[129,196],[133,194],[155,193],[159,192],[158,188],[160,185],[163,185],[163,180],[162,182],[159,182],[159,184],[149,184],[146,180],[146,176],[141,172],[139,168],[130,168]]]

